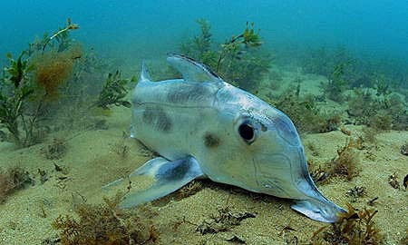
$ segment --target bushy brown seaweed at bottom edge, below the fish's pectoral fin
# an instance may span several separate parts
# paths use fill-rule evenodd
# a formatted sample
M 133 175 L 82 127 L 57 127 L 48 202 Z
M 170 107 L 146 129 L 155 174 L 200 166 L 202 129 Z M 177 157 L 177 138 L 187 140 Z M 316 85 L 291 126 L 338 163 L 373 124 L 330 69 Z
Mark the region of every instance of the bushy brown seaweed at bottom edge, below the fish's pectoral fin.
M 53 228 L 61 230 L 63 245 L 152 244 L 160 242 L 159 233 L 151 222 L 150 210 L 135 213 L 118 207 L 121 195 L 104 198 L 99 205 L 81 204 L 75 209 L 78 219 L 60 215 Z

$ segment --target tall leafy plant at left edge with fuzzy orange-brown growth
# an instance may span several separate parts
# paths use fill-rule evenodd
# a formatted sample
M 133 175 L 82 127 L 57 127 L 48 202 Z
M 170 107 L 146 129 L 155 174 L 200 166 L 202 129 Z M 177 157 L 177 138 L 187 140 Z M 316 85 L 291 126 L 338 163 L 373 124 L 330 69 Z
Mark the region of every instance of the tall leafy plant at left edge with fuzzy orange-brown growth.
M 55 97 L 58 86 L 73 71 L 73 59 L 81 56 L 78 49 L 44 52 L 39 44 L 52 44 L 53 39 L 67 41 L 67 31 L 53 35 L 48 42 L 30 44 L 16 60 L 7 54 L 10 64 L 0 79 L 0 125 L 7 130 L 2 131 L 2 138 L 18 147 L 33 145 L 43 137 L 44 125 L 38 122 L 44 118 L 45 101 Z

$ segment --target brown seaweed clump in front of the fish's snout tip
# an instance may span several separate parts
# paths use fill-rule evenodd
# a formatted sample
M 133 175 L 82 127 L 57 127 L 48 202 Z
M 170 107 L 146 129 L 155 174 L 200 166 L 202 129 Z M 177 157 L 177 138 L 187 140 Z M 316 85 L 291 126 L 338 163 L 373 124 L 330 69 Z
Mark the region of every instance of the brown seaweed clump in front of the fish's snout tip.
M 347 204 L 348 211 L 339 214 L 339 220 L 329 226 L 324 226 L 312 236 L 313 244 L 323 241 L 327 244 L 382 244 L 383 237 L 374 225 L 374 215 L 378 211 L 355 211 Z

